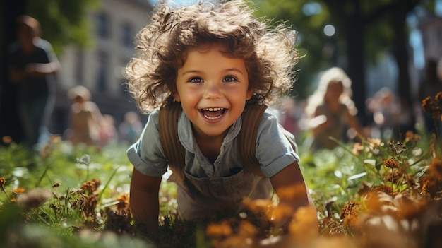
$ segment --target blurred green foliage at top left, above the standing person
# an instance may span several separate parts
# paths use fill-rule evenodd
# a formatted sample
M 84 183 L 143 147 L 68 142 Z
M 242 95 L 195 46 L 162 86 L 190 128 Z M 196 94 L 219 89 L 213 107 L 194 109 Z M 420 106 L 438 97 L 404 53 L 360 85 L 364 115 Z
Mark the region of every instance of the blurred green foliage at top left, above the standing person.
M 69 44 L 87 46 L 92 44 L 92 23 L 88 11 L 99 6 L 98 0 L 32 0 L 26 1 L 28 15 L 42 25 L 42 37 L 52 43 L 57 54 Z

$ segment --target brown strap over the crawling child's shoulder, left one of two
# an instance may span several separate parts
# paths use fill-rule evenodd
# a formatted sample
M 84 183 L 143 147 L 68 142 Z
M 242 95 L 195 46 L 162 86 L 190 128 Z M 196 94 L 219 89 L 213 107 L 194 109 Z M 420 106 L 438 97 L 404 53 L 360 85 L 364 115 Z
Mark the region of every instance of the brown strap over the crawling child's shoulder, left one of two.
M 162 150 L 165 153 L 170 170 L 174 176 L 184 180 L 185 150 L 179 142 L 178 118 L 181 113 L 181 104 L 172 102 L 161 108 L 158 114 L 158 131 Z

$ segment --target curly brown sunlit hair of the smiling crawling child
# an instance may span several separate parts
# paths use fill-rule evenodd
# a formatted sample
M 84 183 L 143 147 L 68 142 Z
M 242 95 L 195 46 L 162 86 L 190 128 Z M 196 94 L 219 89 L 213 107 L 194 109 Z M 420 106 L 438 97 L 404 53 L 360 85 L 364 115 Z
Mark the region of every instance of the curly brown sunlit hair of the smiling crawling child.
M 162 4 L 137 35 L 136 55 L 126 66 L 129 92 L 143 112 L 172 102 L 188 49 L 218 43 L 229 56 L 244 59 L 254 90 L 250 101 L 270 103 L 294 83 L 296 34 L 284 23 L 258 20 L 242 0 L 201 1 L 177 9 Z

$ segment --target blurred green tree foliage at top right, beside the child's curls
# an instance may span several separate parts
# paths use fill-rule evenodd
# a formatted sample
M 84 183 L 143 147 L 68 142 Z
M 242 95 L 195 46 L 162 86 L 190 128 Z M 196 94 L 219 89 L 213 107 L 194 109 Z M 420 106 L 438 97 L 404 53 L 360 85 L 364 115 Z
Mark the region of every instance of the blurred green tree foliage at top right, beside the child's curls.
M 412 2 L 412 1 L 407 1 Z M 421 1 L 419 8 L 434 11 L 434 0 Z M 285 21 L 299 32 L 297 42 L 301 55 L 305 55 L 297 66 L 298 80 L 294 83 L 295 95 L 305 99 L 316 87 L 315 75 L 318 71 L 330 66 L 340 66 L 345 61 L 346 54 L 351 56 L 366 56 L 366 61 L 376 64 L 386 52 L 394 48 L 394 26 L 392 25 L 396 7 L 402 6 L 402 1 L 328 1 L 328 0 L 265 0 L 253 4 L 257 16 L 266 16 L 274 21 Z M 306 6 L 316 6 L 318 12 L 306 14 Z M 392 7 L 393 6 L 393 7 Z M 357 9 L 359 8 L 359 10 Z M 364 54 L 348 51 L 348 23 L 359 23 L 364 30 Z M 327 37 L 323 34 L 325 25 L 334 25 L 336 34 Z M 353 34 L 354 35 L 354 34 Z M 361 58 L 362 59 L 362 58 Z M 351 75 L 351 73 L 350 73 Z M 353 79 L 353 78 L 352 78 Z

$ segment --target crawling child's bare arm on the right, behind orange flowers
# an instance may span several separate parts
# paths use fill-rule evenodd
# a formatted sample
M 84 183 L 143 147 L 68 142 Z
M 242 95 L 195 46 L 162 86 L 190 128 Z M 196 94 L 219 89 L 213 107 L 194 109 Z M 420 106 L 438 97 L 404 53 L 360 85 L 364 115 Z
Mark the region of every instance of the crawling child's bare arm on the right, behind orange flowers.
M 303 206 L 315 208 L 297 162 L 292 163 L 273 177 L 270 177 L 270 182 L 272 182 L 273 189 L 275 189 L 277 196 L 280 198 L 280 203 L 292 206 L 294 211 Z M 290 190 L 293 190 L 292 193 L 287 194 L 287 191 Z M 293 197 L 285 197 L 288 195 Z

